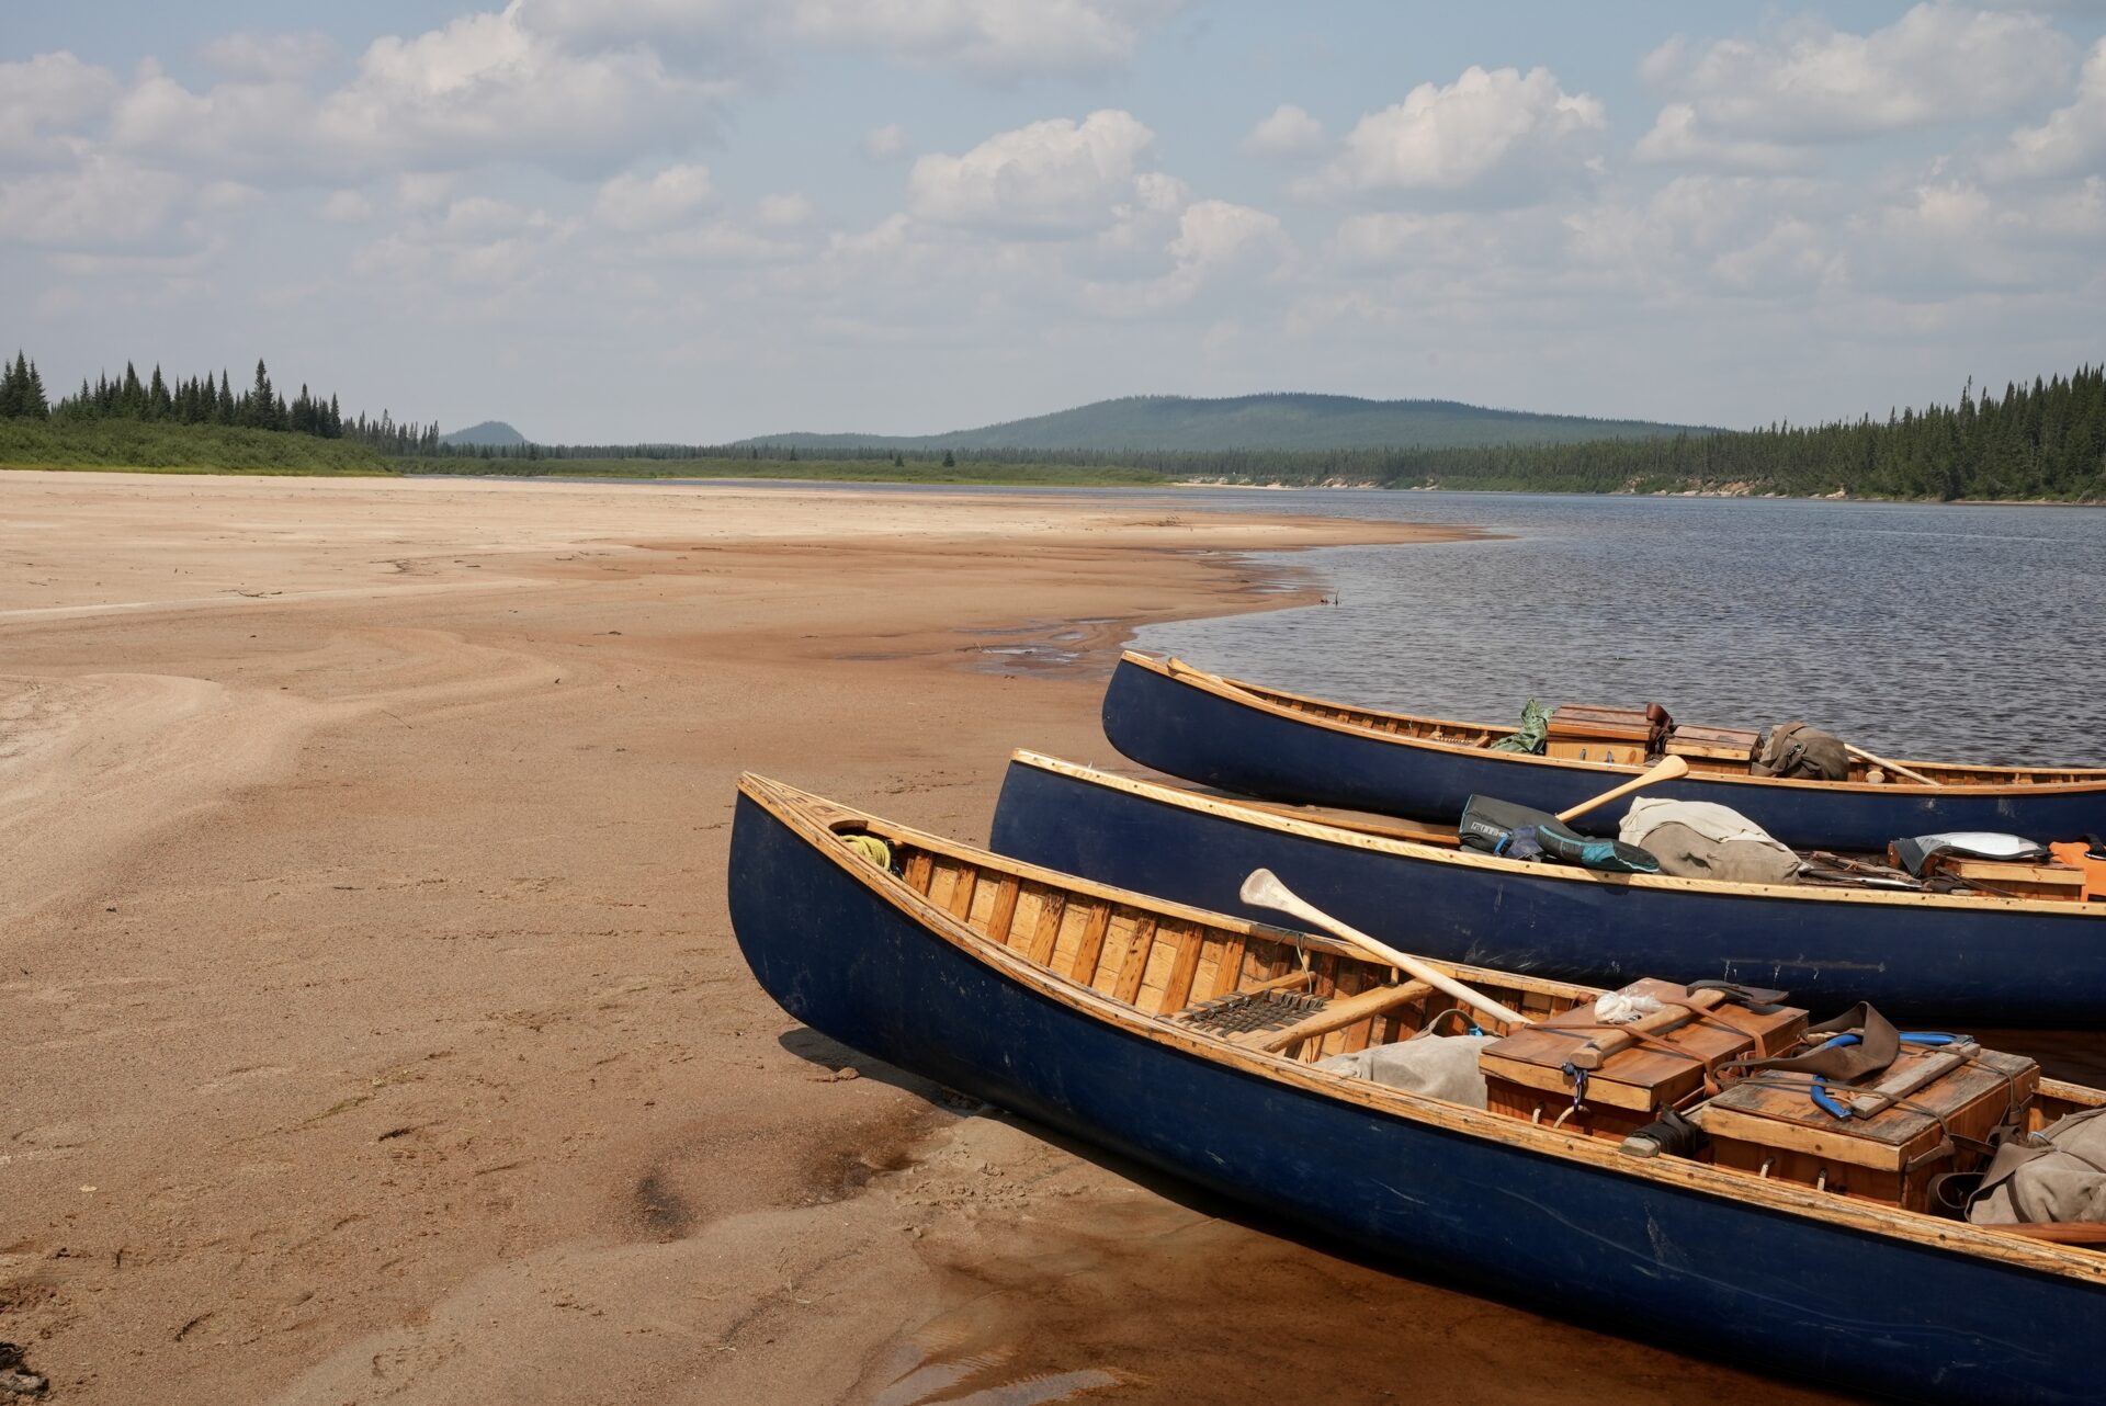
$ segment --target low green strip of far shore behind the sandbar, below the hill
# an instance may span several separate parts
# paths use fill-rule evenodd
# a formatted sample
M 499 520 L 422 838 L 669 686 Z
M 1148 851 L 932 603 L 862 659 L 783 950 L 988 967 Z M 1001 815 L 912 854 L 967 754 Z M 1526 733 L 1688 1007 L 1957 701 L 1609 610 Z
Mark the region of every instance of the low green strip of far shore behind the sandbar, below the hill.
M 1011 488 L 1148 488 L 1173 480 L 1154 469 L 1122 465 L 1074 463 L 1000 463 L 1000 461 L 895 461 L 882 459 L 752 459 L 682 457 L 682 459 L 470 459 L 417 457 L 394 459 L 402 474 L 461 474 L 503 478 L 746 478 L 746 480 L 819 480 L 847 484 L 994 484 Z

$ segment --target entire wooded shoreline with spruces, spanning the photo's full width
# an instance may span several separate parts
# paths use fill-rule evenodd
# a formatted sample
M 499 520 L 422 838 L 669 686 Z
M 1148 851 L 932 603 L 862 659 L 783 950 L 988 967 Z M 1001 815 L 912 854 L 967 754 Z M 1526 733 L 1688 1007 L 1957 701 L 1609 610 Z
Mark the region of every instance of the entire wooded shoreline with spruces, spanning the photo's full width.
M 341 444 L 318 444 L 339 440 Z M 310 448 L 299 448 L 299 444 Z M 215 459 L 219 457 L 219 459 Z M 0 360 L 0 463 L 185 465 L 617 478 L 851 478 L 895 482 L 1287 484 L 1512 493 L 1723 493 L 1876 499 L 2106 501 L 2106 364 L 2068 377 L 1969 381 L 1956 402 L 1824 425 L 1487 444 L 1472 448 L 807 448 L 754 444 L 440 444 L 438 425 L 343 419 L 337 398 L 291 402 L 257 362 L 168 385 L 93 385 L 51 404 L 36 364 Z

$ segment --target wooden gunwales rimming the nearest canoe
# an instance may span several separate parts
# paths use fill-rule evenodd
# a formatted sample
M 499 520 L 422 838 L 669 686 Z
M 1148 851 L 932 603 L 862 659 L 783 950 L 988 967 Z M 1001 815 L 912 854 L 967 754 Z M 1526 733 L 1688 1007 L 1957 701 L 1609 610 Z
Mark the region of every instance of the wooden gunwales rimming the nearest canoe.
M 889 907 L 912 920 L 929 937 L 948 943 L 971 960 L 992 968 L 1000 977 L 1045 1000 L 1122 1029 L 1125 1033 L 1137 1036 L 1150 1044 L 1175 1050 L 1181 1057 L 1314 1092 L 1327 1101 L 1363 1107 L 1384 1118 L 1405 1120 L 1481 1143 L 1495 1143 L 1516 1151 L 1613 1172 L 1622 1179 L 1678 1187 L 1727 1202 L 1761 1204 L 1769 1210 L 1803 1221 L 1820 1221 L 1860 1233 L 1900 1240 L 1923 1250 L 1975 1261 L 1994 1261 L 2005 1267 L 2106 1286 L 2106 1257 L 2085 1248 L 1996 1233 L 1961 1221 L 1940 1221 L 1919 1212 L 1904 1212 L 1874 1202 L 1826 1196 L 1811 1187 L 1796 1187 L 1784 1181 L 1763 1181 L 1744 1172 L 1729 1172 L 1674 1158 L 1641 1162 L 1617 1153 L 1613 1145 L 1598 1139 L 1565 1134 L 1552 1128 L 1531 1126 L 1508 1116 L 1468 1109 L 1422 1094 L 1369 1084 L 1367 1080 L 1329 1073 L 1278 1054 L 1240 1048 L 1224 1038 L 1181 1027 L 1165 1017 L 1144 1015 L 1133 1006 L 1120 1004 L 1091 987 L 1082 987 L 1045 966 L 1030 962 L 1024 953 L 1007 945 L 992 943 L 967 926 L 967 922 L 958 920 L 948 907 L 929 901 L 897 876 L 878 869 L 870 861 L 851 852 L 845 844 L 840 844 L 838 833 L 849 827 L 863 827 L 880 838 L 897 838 L 916 848 L 927 848 L 931 852 L 954 857 L 960 863 L 977 865 L 984 871 L 994 871 L 998 876 L 1015 873 L 1053 888 L 1068 888 L 1072 892 L 1110 899 L 1125 907 L 1156 913 L 1158 918 L 1167 916 L 1175 922 L 1196 922 L 1203 928 L 1213 928 L 1217 932 L 1259 935 L 1268 941 L 1295 941 L 1308 945 L 1312 951 L 1329 951 L 1339 945 L 1306 935 L 1287 935 L 1287 930 L 1272 928 L 1268 924 L 1253 924 L 1221 913 L 1207 913 L 1203 909 L 1163 903 L 1131 890 L 1087 884 L 1051 869 L 1009 861 L 906 825 L 893 825 L 889 821 L 880 821 L 878 817 L 870 817 L 834 802 L 823 802 L 807 791 L 798 791 L 796 787 L 756 775 L 743 775 L 739 779 L 739 791 L 792 833 L 800 836 L 807 844 L 811 844 L 811 848 L 826 855 L 828 861 L 832 861 L 842 873 L 851 876 L 859 886 L 868 888 Z M 1192 935 L 1190 941 L 1198 941 L 1198 935 Z M 1375 964 L 1365 966 L 1373 968 Z M 1478 968 L 1453 962 L 1436 962 L 1436 966 L 1451 970 L 1466 981 L 1478 979 L 1514 989 L 1554 991 L 1577 998 L 1594 996 L 1594 989 L 1580 987 L 1575 983 L 1539 981 L 1516 972 L 1481 972 Z M 2051 1080 L 2041 1082 L 2041 1092 L 2077 1105 L 2095 1105 L 2106 1099 L 2106 1094 L 2100 1094 L 2098 1090 L 2074 1084 L 2058 1084 Z

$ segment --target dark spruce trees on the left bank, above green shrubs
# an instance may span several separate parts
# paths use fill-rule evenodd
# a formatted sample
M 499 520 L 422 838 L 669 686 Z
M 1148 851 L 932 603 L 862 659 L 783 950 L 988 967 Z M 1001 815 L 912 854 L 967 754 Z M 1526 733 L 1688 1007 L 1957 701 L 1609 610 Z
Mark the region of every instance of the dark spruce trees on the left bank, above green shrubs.
M 232 425 L 305 434 L 316 440 L 354 440 L 383 455 L 432 455 L 440 448 L 436 421 L 430 425 L 396 423 L 385 410 L 379 419 L 364 415 L 345 419 L 335 396 L 324 400 L 310 394 L 305 385 L 293 400 L 286 400 L 272 385 L 270 368 L 261 358 L 257 358 L 255 381 L 242 391 L 234 389 L 225 368 L 217 377 L 204 373 L 171 383 L 162 377 L 160 366 L 154 366 L 154 373 L 141 381 L 137 366 L 124 362 L 122 377 L 103 373 L 93 385 L 82 377 L 80 391 L 53 404 L 36 362 L 17 352 L 15 362 L 0 373 L 0 419 Z

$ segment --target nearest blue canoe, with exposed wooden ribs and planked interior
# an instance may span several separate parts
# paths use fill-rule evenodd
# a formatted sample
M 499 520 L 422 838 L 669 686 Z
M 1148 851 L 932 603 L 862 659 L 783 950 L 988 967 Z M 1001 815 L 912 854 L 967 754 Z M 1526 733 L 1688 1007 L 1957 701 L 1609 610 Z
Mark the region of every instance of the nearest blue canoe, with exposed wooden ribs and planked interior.
M 845 842 L 891 844 L 878 867 Z M 760 985 L 868 1054 L 1430 1278 L 1916 1402 L 2098 1400 L 2106 1254 L 1470 1109 L 1304 1059 L 1432 1021 L 1339 943 L 1089 884 L 746 777 L 731 920 Z M 1200 1000 L 1373 1010 L 1268 1050 Z M 1592 991 L 1453 968 L 1523 1010 Z M 1299 981 L 1299 977 L 1297 977 Z M 1388 1004 L 1384 1004 L 1388 1002 Z M 1358 1042 L 1358 1044 L 1354 1044 Z M 1266 1038 L 1266 1044 L 1276 1040 Z M 2039 1116 L 2106 1103 L 2043 1082 Z

